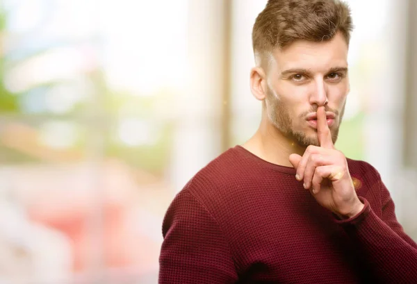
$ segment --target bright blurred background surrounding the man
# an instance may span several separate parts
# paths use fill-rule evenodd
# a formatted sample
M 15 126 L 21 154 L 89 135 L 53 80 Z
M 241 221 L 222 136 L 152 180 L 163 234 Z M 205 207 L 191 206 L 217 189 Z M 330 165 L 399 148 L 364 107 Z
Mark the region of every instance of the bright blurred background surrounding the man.
M 260 122 L 266 0 L 1 0 L 0 283 L 157 283 L 163 215 Z M 374 165 L 417 240 L 414 0 L 350 0 L 336 144 Z

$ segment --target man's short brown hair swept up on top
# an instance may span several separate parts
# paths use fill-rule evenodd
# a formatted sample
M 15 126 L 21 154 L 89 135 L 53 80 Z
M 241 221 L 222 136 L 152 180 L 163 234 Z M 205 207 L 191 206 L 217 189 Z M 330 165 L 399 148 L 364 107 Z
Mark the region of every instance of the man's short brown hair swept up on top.
M 252 30 L 255 56 L 296 40 L 323 42 L 341 31 L 347 44 L 353 29 L 350 8 L 340 0 L 269 0 Z

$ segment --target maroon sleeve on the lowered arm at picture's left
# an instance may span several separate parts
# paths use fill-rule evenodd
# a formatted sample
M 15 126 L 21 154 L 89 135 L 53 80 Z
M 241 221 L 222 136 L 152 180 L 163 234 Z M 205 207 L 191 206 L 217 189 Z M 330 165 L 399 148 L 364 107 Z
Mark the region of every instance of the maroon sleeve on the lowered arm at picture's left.
M 188 191 L 180 192 L 163 221 L 159 284 L 235 283 L 234 261 L 218 223 Z

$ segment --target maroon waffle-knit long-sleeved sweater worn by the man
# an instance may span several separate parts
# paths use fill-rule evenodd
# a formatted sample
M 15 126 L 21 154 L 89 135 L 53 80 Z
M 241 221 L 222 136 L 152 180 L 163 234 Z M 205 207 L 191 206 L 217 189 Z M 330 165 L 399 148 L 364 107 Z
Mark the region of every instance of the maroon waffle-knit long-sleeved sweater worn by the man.
M 159 283 L 417 283 L 417 244 L 389 191 L 371 165 L 347 162 L 365 206 L 340 220 L 292 167 L 222 153 L 167 210 Z

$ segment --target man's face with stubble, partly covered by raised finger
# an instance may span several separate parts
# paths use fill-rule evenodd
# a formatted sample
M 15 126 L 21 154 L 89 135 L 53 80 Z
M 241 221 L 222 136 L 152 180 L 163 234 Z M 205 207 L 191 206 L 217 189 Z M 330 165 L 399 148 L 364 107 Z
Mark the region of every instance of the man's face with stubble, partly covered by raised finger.
M 325 106 L 336 142 L 349 92 L 347 43 L 341 33 L 327 42 L 300 40 L 275 50 L 267 82 L 266 111 L 281 133 L 300 146 L 318 146 L 315 115 L 318 106 Z

